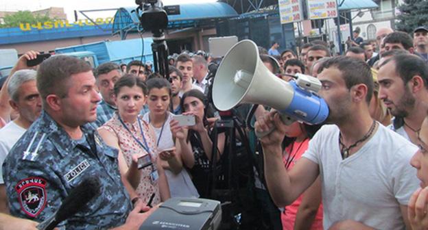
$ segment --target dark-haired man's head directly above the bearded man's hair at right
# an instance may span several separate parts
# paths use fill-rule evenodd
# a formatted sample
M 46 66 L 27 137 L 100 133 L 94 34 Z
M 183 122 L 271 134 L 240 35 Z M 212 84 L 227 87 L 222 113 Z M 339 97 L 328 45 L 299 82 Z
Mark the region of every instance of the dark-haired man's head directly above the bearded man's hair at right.
M 385 51 L 390 51 L 391 49 L 405 49 L 410 53 L 414 53 L 412 37 L 403 31 L 392 32 L 383 38 L 383 49 L 385 49 Z

